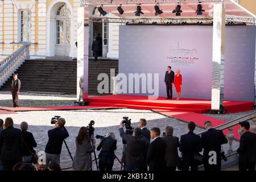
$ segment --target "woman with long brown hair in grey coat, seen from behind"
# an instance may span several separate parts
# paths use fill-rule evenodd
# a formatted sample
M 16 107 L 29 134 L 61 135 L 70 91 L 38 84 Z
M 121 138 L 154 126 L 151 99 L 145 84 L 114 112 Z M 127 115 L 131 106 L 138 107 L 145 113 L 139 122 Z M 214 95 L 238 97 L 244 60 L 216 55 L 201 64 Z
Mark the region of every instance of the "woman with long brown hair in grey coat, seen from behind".
M 89 171 L 92 169 L 92 152 L 95 148 L 95 139 L 93 145 L 86 127 L 81 127 L 76 137 L 76 153 L 72 168 L 76 171 Z

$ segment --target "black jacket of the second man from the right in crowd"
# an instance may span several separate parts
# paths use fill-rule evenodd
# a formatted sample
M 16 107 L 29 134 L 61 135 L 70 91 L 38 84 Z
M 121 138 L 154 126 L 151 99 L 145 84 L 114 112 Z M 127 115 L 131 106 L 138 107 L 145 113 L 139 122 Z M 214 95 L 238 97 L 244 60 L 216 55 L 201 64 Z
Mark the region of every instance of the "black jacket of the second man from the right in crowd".
M 210 158 L 209 152 L 215 151 L 217 154 L 217 163 L 220 163 L 221 160 L 221 145 L 224 143 L 228 143 L 225 135 L 221 130 L 209 129 L 202 134 L 201 137 L 202 147 L 204 148 L 204 163 L 208 163 L 208 159 Z

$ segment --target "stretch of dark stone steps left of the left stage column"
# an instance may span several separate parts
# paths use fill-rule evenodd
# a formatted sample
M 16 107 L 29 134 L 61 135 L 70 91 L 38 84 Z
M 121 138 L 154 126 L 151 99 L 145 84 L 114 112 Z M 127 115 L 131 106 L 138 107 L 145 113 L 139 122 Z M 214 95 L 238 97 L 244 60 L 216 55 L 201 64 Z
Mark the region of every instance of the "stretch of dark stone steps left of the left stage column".
M 26 60 L 16 71 L 20 92 L 76 94 L 76 60 Z M 10 91 L 10 77 L 0 90 Z

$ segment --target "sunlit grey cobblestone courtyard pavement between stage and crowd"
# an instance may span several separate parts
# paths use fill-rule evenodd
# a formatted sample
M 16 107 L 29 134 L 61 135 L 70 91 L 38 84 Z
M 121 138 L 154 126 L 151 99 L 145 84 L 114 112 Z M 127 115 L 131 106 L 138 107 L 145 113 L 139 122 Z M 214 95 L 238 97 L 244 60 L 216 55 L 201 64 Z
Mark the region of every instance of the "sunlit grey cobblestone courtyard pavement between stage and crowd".
M 59 94 L 35 94 L 35 93 L 20 93 L 20 101 L 22 106 L 64 106 L 73 105 L 73 101 L 76 100 L 76 96 L 71 95 L 59 95 Z M 10 106 L 11 95 L 9 92 L 0 92 L 0 106 Z M 216 117 L 218 119 L 224 119 L 225 121 L 231 121 L 232 119 L 240 118 L 243 115 L 254 112 L 248 111 L 244 113 L 235 114 L 205 114 L 210 117 Z M 95 134 L 106 135 L 108 131 L 114 131 L 116 139 L 118 140 L 117 150 L 115 154 L 118 159 L 121 160 L 122 156 L 122 139 L 119 137 L 118 128 L 122 117 L 131 118 L 132 126 L 137 127 L 139 118 L 147 119 L 147 127 L 159 127 L 161 132 L 167 125 L 174 127 L 174 135 L 180 138 L 180 135 L 187 133 L 187 123 L 179 121 L 175 118 L 165 117 L 158 113 L 154 113 L 150 110 L 135 110 L 135 109 L 112 109 L 112 110 L 68 110 L 68 111 L 26 111 L 18 112 L 18 114 L 1 114 L 0 118 L 12 117 L 14 119 L 15 127 L 19 127 L 22 121 L 28 122 L 28 131 L 34 134 L 35 140 L 38 143 L 38 147 L 35 148 L 37 152 L 44 150 L 47 144 L 48 136 L 47 131 L 53 129 L 51 125 L 51 118 L 55 115 L 60 115 L 66 119 L 66 127 L 69 131 L 69 138 L 67 138 L 68 148 L 75 154 L 75 137 L 81 126 L 87 126 L 91 120 L 95 121 Z M 196 128 L 195 133 L 203 131 L 199 127 Z M 100 140 L 96 140 L 97 144 Z M 239 143 L 233 142 L 233 149 L 236 150 Z M 228 144 L 224 144 L 224 151 L 229 148 Z M 96 151 L 98 155 L 98 151 Z M 93 156 L 94 159 L 94 156 Z M 67 168 L 72 166 L 71 158 L 68 154 L 67 148 L 63 144 L 63 150 L 61 152 L 61 167 Z M 95 163 L 93 163 L 94 169 L 96 169 Z M 121 168 L 117 160 L 114 163 L 114 170 Z

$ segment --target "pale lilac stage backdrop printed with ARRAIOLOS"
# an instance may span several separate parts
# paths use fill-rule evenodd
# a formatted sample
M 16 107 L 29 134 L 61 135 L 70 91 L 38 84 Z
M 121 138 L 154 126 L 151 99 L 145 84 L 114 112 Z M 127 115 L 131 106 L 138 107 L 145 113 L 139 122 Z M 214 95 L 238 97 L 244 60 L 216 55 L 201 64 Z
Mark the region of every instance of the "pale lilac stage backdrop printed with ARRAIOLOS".
M 226 27 L 225 100 L 254 100 L 255 32 Z M 166 96 L 168 65 L 181 70 L 181 97 L 210 99 L 212 26 L 119 26 L 119 73 L 159 73 L 159 96 Z

